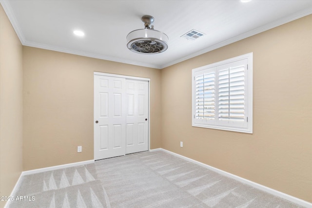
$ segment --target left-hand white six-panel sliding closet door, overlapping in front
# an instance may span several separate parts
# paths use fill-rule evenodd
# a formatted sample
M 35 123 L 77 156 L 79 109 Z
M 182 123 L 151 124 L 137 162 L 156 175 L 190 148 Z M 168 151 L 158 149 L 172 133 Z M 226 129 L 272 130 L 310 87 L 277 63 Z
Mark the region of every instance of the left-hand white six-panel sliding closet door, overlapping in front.
M 94 159 L 125 155 L 125 78 L 94 76 Z

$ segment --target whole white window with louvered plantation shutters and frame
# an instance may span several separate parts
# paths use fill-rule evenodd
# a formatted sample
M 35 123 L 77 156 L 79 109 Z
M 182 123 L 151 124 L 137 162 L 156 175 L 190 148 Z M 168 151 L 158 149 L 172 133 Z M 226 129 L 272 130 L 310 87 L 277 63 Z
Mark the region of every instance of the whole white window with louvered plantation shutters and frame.
M 192 70 L 192 126 L 253 133 L 253 53 Z

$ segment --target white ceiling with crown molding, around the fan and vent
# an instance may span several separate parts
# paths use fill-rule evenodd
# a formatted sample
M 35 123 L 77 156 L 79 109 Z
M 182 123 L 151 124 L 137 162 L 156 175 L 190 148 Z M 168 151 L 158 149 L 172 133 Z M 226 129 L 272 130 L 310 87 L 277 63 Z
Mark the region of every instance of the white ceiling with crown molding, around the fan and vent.
M 164 68 L 286 22 L 312 14 L 312 0 L 0 0 L 26 46 Z M 129 32 L 143 29 L 143 15 L 169 37 L 155 55 L 126 47 Z M 84 31 L 83 38 L 73 34 Z M 180 38 L 195 29 L 196 40 Z

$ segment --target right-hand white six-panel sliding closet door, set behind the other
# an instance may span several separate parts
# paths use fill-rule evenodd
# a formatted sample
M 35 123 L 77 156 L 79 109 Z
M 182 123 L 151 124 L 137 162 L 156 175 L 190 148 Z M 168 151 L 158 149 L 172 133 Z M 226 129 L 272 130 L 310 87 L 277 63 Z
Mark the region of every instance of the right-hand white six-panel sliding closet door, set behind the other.
M 148 81 L 126 80 L 126 154 L 148 150 Z

